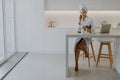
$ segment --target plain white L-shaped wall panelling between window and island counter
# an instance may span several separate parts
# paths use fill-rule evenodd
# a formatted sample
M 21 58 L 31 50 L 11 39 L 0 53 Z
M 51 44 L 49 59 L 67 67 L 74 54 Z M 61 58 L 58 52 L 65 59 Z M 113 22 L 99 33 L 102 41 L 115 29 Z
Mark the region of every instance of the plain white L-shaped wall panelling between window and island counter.
M 65 32 L 74 28 L 46 27 L 44 0 L 16 0 L 16 19 L 19 52 L 65 53 Z M 70 40 L 71 53 L 73 44 L 74 39 Z

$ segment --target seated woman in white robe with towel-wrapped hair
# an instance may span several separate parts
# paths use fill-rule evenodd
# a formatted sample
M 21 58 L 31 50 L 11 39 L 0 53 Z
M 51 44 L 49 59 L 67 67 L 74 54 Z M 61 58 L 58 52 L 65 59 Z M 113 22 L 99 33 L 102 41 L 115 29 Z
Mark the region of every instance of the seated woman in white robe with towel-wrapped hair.
M 87 7 L 85 5 L 82 5 L 80 9 L 80 17 L 79 17 L 79 30 L 88 31 L 91 32 L 91 28 L 93 25 L 93 20 L 87 16 Z M 79 60 L 79 54 L 80 50 L 84 51 L 85 57 L 88 57 L 88 46 L 91 41 L 91 38 L 78 38 L 76 45 L 75 45 L 75 71 L 78 71 L 78 60 Z

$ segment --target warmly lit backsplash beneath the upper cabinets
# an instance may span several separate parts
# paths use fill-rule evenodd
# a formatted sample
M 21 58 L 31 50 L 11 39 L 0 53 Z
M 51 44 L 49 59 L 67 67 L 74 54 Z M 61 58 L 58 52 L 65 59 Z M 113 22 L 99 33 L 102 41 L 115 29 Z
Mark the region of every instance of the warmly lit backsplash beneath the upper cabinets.
M 78 25 L 79 11 L 45 11 L 45 25 L 54 27 L 75 27 Z M 113 27 L 120 22 L 120 11 L 89 11 L 88 16 L 94 21 L 95 26 L 107 20 Z

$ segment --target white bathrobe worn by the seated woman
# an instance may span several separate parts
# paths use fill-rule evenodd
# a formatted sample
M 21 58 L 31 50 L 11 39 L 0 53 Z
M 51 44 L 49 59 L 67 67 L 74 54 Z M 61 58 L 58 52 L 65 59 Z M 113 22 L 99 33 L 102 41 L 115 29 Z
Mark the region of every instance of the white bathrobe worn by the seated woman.
M 77 28 L 77 30 L 81 30 L 83 28 L 83 26 L 90 26 L 91 25 L 91 29 L 94 27 L 93 24 L 93 20 L 91 18 L 89 18 L 88 16 L 85 18 L 84 21 L 81 21 L 80 26 Z M 76 42 L 78 42 L 81 38 L 78 38 L 76 40 Z M 89 48 L 89 44 L 91 42 L 91 38 L 84 38 L 87 44 L 87 49 Z

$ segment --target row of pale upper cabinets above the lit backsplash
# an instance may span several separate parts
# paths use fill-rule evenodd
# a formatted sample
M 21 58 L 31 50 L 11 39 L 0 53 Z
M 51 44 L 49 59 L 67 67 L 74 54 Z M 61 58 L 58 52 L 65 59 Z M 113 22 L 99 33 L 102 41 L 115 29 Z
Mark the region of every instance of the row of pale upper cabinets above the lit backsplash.
M 80 4 L 90 11 L 120 10 L 120 0 L 45 0 L 45 10 L 79 10 Z

